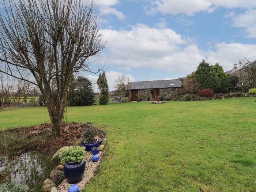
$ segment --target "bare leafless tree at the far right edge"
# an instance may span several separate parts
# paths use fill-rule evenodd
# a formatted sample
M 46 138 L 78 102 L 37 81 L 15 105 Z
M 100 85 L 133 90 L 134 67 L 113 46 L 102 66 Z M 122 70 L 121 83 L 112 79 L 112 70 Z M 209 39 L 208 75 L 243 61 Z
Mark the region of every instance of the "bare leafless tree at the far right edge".
M 251 62 L 245 58 L 234 64 L 234 69 L 247 73 L 252 81 L 253 87 L 256 88 L 256 60 Z

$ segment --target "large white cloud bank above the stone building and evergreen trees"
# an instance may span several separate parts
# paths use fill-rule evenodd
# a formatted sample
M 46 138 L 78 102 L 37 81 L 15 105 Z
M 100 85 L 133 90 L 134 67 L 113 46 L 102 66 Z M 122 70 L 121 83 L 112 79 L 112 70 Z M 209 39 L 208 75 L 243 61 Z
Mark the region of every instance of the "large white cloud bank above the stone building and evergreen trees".
M 206 59 L 220 63 L 225 70 L 244 57 L 256 56 L 255 44 L 219 43 L 212 50 L 200 50 L 196 43 L 172 29 L 156 29 L 136 25 L 131 30 L 101 30 L 106 44 L 104 63 L 118 68 L 162 69 L 188 74 Z

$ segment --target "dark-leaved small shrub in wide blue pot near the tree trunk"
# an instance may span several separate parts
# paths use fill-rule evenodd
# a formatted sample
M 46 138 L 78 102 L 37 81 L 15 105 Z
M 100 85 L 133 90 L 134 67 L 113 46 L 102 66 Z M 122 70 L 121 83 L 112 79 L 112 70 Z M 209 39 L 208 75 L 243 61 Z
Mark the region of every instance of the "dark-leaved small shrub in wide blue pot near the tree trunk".
M 97 129 L 94 127 L 88 127 L 84 133 L 83 133 L 83 138 L 84 138 L 84 147 L 86 151 L 91 151 L 91 148 L 93 147 L 98 147 L 99 146 L 99 139 L 95 138 L 97 134 Z

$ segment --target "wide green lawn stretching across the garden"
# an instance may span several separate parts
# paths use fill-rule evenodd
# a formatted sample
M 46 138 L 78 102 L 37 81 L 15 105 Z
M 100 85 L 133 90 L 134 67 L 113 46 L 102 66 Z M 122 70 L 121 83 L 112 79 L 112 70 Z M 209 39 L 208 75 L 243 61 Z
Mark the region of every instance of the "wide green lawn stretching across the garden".
M 83 191 L 256 191 L 254 101 L 69 107 L 67 121 L 91 121 L 109 142 L 106 159 Z M 1 129 L 46 121 L 42 107 L 0 112 Z

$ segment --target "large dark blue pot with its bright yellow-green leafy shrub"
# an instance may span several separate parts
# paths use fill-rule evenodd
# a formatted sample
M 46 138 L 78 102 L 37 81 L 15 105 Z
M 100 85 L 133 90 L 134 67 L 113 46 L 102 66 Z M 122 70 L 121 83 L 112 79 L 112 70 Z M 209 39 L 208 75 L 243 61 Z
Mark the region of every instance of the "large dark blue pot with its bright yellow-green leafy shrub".
M 74 146 L 60 151 L 59 158 L 65 161 L 63 172 L 68 183 L 73 184 L 82 180 L 86 165 L 84 157 L 84 147 Z

